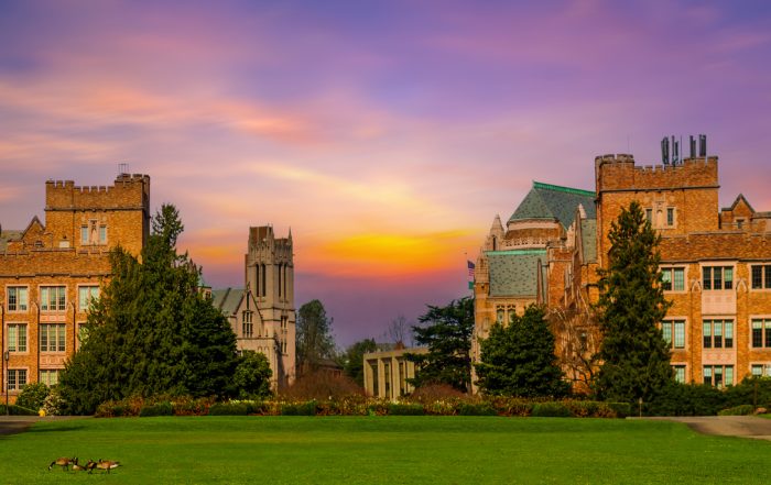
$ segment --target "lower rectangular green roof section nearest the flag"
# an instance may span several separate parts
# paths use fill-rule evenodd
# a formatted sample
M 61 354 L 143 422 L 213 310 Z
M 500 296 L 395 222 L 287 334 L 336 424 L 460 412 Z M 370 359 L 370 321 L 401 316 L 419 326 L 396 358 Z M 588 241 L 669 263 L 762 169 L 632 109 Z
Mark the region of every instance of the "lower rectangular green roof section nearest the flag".
M 546 250 L 487 251 L 491 297 L 537 296 L 537 261 L 546 280 Z

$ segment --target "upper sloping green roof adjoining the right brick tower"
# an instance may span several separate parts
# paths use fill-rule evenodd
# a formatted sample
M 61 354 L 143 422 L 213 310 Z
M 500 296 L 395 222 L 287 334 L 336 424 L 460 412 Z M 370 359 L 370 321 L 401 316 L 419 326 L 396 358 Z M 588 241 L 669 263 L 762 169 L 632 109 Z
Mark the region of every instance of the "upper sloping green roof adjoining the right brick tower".
M 563 228 L 567 229 L 573 223 L 579 203 L 584 207 L 588 219 L 597 217 L 595 192 L 533 181 L 533 188 L 511 214 L 509 222 L 526 219 L 556 219 Z

